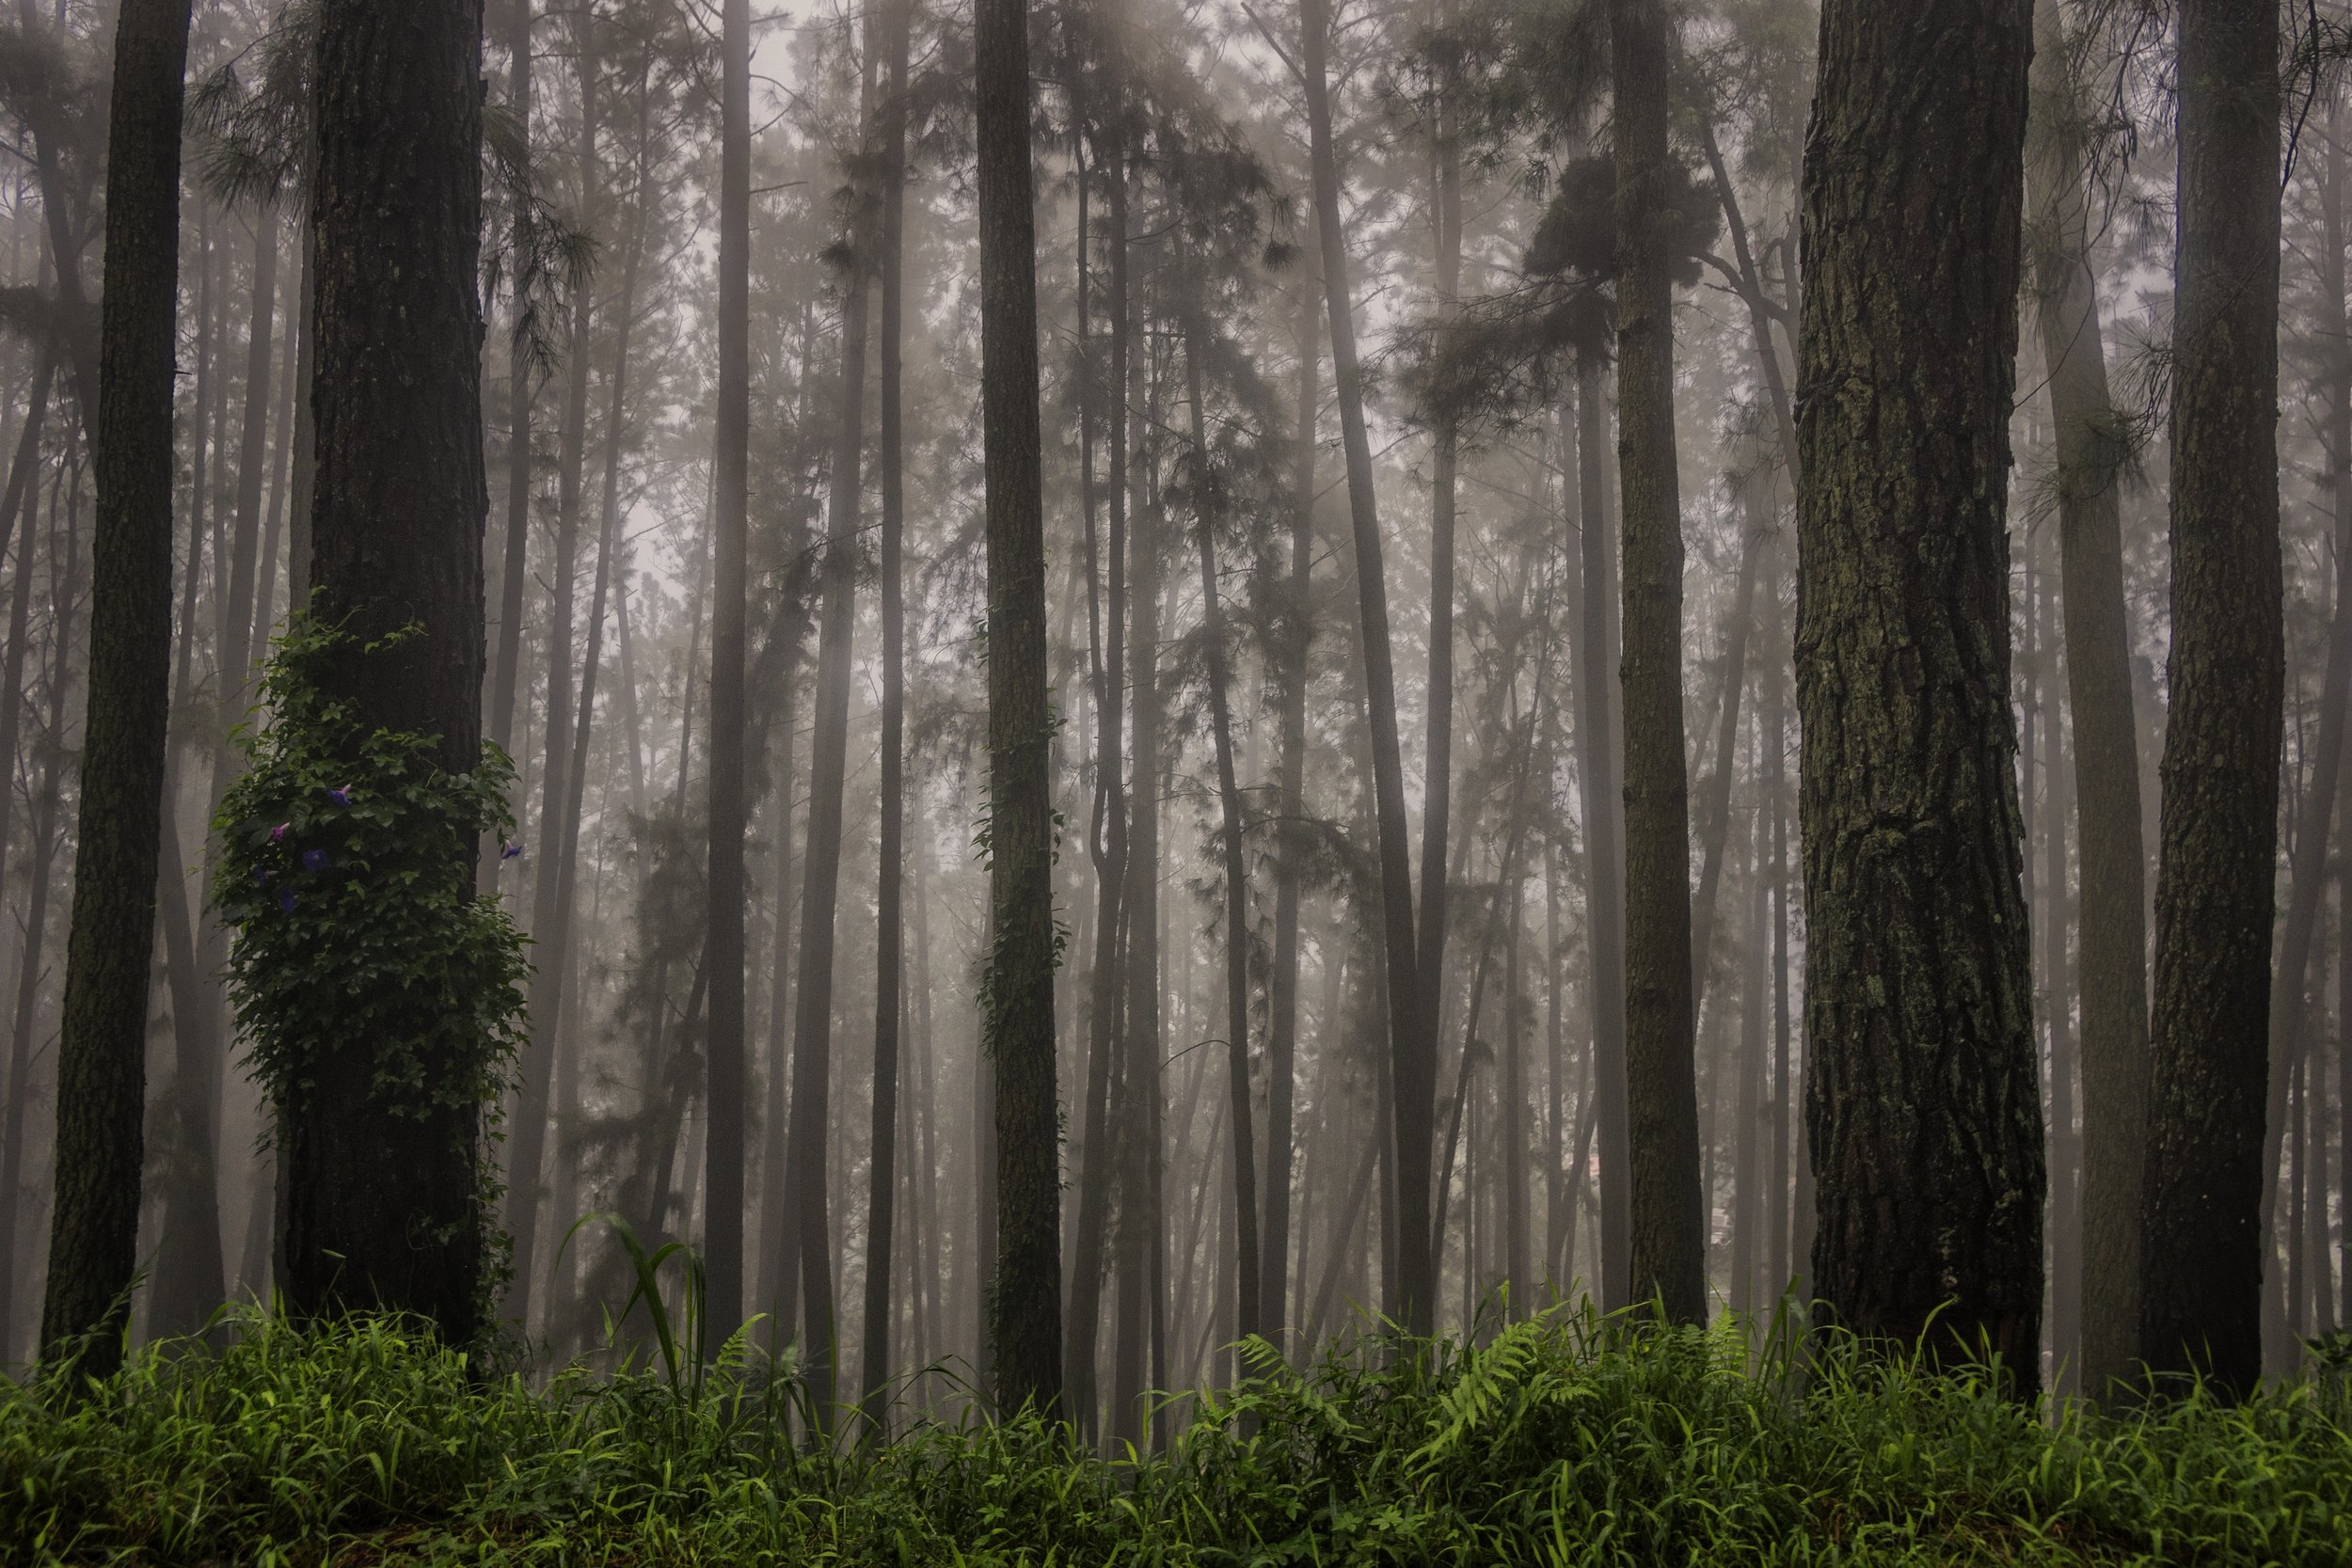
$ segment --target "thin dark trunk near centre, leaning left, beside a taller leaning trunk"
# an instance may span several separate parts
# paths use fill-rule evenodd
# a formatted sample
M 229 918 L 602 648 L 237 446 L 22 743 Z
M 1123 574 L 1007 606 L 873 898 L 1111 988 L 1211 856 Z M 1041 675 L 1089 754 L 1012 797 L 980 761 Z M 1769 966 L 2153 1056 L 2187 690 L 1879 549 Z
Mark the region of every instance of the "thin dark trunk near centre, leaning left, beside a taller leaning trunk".
M 1192 541 L 1200 550 L 1200 616 L 1209 644 L 1209 736 L 1216 745 L 1216 799 L 1225 858 L 1225 1103 L 1232 1126 L 1235 1338 L 1258 1333 L 1258 1152 L 1249 1105 L 1249 875 L 1242 860 L 1242 785 L 1232 771 L 1232 672 L 1225 668 L 1225 611 L 1216 592 L 1216 496 L 1209 416 L 1200 393 L 1197 320 L 1185 322 L 1185 395 L 1192 407 Z

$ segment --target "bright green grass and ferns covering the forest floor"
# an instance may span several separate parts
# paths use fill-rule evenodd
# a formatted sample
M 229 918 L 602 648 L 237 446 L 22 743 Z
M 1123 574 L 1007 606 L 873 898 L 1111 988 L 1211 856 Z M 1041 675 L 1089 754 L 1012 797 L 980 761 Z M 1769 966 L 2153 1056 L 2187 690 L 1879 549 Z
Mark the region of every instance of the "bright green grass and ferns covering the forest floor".
M 1258 1347 L 1157 1458 L 1037 1420 L 809 1443 L 781 1368 L 487 1375 L 400 1321 L 233 1319 L 0 1378 L 5 1563 L 2345 1563 L 2333 1378 L 2133 1415 L 1832 1347 L 1548 1314 Z

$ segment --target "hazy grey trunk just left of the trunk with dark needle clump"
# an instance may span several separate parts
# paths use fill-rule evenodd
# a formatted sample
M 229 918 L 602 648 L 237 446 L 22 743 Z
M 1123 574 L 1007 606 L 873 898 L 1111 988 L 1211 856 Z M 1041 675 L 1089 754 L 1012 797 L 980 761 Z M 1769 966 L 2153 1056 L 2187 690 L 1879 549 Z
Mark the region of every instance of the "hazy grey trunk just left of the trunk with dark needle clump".
M 1602 350 L 1576 350 L 1576 524 L 1569 599 L 1576 611 L 1576 780 L 1585 818 L 1585 957 L 1590 959 L 1592 1095 L 1599 1133 L 1602 1309 L 1632 1305 L 1632 1204 L 1625 1145 L 1625 849 L 1618 743 L 1616 517 L 1609 505 L 1609 409 Z

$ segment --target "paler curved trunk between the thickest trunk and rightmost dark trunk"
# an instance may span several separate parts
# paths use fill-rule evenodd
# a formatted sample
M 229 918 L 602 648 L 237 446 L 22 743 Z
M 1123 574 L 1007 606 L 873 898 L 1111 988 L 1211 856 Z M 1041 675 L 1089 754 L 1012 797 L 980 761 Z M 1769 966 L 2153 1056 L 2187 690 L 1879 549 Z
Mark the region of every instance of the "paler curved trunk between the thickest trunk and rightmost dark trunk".
M 2067 717 L 2082 865 L 2082 1387 L 2133 1375 L 2140 1288 L 2140 1159 L 2147 1138 L 2147 853 L 2140 741 L 2124 611 L 2122 473 L 2129 437 L 2107 395 L 2091 270 L 2082 106 L 2056 0 L 2034 5 L 2025 165 L 2034 324 L 2058 440 L 2058 569 L 2065 578 Z M 2343 247 L 2338 254 L 2338 280 Z M 2343 287 L 2338 327 L 2343 315 Z M 2338 454 L 2338 461 L 2343 456 Z M 2352 630 L 2352 621 L 2343 623 Z M 2338 642 L 2343 632 L 2338 632 Z M 2065 1267 L 2077 1267 L 2067 1260 Z

